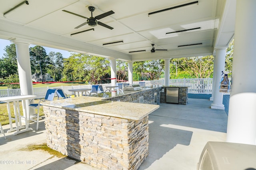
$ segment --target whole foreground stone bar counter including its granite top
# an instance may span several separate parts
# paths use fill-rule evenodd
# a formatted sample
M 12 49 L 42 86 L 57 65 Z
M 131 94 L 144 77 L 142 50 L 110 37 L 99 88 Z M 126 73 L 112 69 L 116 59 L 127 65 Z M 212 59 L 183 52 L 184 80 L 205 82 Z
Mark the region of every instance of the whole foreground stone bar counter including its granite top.
M 47 145 L 101 170 L 136 170 L 148 155 L 158 105 L 80 96 L 44 102 Z

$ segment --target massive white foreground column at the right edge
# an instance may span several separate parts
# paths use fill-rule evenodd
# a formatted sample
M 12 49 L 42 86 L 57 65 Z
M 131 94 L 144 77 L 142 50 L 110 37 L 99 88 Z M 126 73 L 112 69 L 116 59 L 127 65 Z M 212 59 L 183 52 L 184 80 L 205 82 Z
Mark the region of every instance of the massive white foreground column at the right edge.
M 256 145 L 256 1 L 236 1 L 227 142 Z

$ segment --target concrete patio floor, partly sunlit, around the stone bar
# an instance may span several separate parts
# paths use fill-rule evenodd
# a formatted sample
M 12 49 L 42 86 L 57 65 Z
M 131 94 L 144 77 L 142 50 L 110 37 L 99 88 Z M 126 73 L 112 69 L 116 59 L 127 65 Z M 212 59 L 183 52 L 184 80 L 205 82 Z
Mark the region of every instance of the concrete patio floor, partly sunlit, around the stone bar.
M 188 99 L 187 105 L 160 104 L 149 115 L 149 155 L 139 170 L 196 170 L 208 141 L 226 141 L 228 116 L 224 110 L 210 109 L 211 101 Z M 44 118 L 44 117 L 43 117 Z M 36 129 L 36 124 L 30 127 Z M 6 132 L 9 125 L 4 125 Z M 8 170 L 96 170 L 68 157 L 44 150 L 28 150 L 46 143 L 44 119 L 38 131 L 13 136 L 0 134 L 0 169 Z

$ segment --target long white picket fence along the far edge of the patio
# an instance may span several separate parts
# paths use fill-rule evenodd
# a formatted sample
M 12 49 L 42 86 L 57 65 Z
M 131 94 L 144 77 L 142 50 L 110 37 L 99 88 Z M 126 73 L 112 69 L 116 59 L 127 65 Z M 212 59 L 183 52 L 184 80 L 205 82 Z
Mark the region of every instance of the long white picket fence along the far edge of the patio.
M 148 80 L 133 82 L 134 84 L 143 84 L 143 86 L 157 87 L 163 86 L 164 80 Z M 170 86 L 188 86 L 188 93 L 193 94 L 212 94 L 212 78 L 183 78 L 183 79 L 170 79 Z M 102 84 L 103 88 L 105 86 L 111 86 L 111 84 Z M 58 86 L 50 88 L 61 88 L 67 95 L 71 95 L 68 89 L 78 89 L 78 88 L 91 88 L 92 85 L 78 85 L 78 86 Z M 49 88 L 33 88 L 34 95 L 36 98 L 44 98 L 46 91 Z M 106 88 L 104 88 L 106 90 Z M 4 89 L 0 90 L 0 97 L 8 96 L 19 96 L 20 89 Z

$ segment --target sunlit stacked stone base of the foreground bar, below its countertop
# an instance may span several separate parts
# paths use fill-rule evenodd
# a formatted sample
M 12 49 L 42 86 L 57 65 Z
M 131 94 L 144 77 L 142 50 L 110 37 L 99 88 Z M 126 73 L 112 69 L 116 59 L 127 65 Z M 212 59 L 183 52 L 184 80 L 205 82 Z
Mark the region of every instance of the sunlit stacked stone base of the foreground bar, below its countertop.
M 136 170 L 148 155 L 148 116 L 122 119 L 44 106 L 47 145 L 101 170 Z

